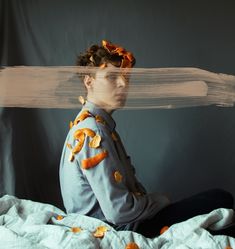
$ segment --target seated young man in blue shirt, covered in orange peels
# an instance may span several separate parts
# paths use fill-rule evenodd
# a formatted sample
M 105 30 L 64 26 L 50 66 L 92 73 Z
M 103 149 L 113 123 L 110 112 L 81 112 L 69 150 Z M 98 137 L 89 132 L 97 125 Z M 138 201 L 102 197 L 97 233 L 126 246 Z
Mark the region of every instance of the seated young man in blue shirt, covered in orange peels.
M 82 110 L 67 135 L 60 162 L 60 184 L 68 213 L 101 219 L 117 230 L 147 237 L 216 208 L 232 208 L 230 193 L 214 189 L 177 203 L 160 193 L 147 193 L 135 176 L 112 113 L 125 105 L 129 78 L 115 68 L 131 68 L 132 53 L 103 40 L 78 57 L 78 66 L 96 73 L 81 75 L 87 90 Z

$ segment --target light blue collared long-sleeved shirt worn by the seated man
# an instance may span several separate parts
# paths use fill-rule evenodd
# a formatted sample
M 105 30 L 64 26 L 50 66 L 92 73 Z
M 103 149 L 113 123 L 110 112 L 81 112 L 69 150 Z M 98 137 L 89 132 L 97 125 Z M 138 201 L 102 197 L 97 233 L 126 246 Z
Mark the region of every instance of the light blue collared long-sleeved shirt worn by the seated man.
M 134 227 L 133 224 L 151 218 L 167 206 L 169 200 L 158 193 L 147 194 L 138 182 L 111 115 L 86 101 L 77 117 L 84 110 L 88 110 L 91 116 L 70 129 L 61 156 L 60 186 L 66 211 L 96 217 L 123 230 Z M 101 116 L 105 124 L 97 122 L 96 115 Z M 99 135 L 100 146 L 91 148 L 89 143 L 92 137 L 85 136 L 81 151 L 74 154 L 74 160 L 70 161 L 71 148 L 78 143 L 74 133 L 82 128 L 89 128 Z M 82 168 L 84 159 L 104 150 L 108 156 L 100 163 L 89 169 Z

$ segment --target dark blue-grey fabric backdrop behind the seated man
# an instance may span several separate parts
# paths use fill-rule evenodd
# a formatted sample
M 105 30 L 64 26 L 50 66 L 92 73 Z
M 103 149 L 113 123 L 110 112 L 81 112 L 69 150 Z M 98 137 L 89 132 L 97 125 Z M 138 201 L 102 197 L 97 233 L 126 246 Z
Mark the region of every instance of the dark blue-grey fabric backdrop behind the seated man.
M 0 1 L 1 65 L 74 65 L 108 39 L 136 67 L 199 67 L 235 75 L 234 1 Z M 0 194 L 63 208 L 58 182 L 78 110 L 0 109 Z M 176 200 L 208 188 L 235 194 L 235 108 L 117 111 L 137 175 Z

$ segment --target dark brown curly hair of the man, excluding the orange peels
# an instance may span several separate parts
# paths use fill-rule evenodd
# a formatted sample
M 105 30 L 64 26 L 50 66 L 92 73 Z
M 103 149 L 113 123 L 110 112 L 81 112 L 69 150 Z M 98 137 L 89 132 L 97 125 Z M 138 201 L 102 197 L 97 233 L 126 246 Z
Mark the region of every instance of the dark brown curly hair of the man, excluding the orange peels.
M 123 56 L 118 53 L 110 53 L 103 46 L 97 44 L 92 45 L 84 53 L 80 53 L 77 56 L 77 66 L 89 66 L 89 67 L 100 67 L 104 63 L 111 63 L 116 67 L 121 67 Z M 135 58 L 131 61 L 131 66 L 135 65 Z M 91 74 L 90 74 L 91 75 Z M 80 78 L 84 79 L 85 75 L 82 73 L 79 75 Z

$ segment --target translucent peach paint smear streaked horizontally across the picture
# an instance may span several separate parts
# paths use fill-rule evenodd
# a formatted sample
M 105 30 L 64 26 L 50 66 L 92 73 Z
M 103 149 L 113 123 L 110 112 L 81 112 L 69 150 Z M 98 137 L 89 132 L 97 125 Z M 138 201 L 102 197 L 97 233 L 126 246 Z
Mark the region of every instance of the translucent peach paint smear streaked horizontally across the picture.
M 91 67 L 17 66 L 0 69 L 0 106 L 26 108 L 80 108 L 85 96 L 78 74 Z M 198 68 L 109 69 L 130 77 L 124 109 L 233 106 L 235 76 Z

